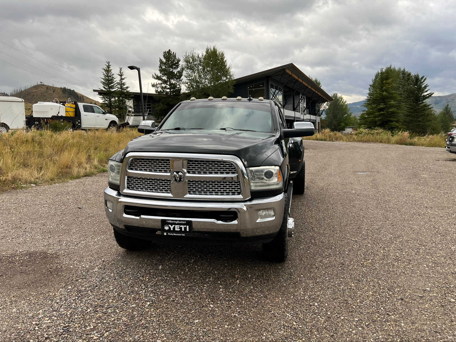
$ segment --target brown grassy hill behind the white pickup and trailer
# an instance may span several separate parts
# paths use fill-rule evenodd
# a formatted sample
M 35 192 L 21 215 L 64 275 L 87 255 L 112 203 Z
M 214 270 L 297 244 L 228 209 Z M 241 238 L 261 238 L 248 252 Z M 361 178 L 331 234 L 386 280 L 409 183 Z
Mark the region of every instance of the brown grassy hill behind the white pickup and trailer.
M 71 98 L 72 101 L 100 105 L 93 98 L 88 98 L 83 94 L 75 92 L 73 89 L 53 87 L 46 84 L 36 84 L 11 96 L 24 99 L 26 115 L 31 113 L 32 104 L 36 104 L 38 101 L 52 101 L 54 98 L 58 98 L 59 101 L 66 101 L 68 98 Z

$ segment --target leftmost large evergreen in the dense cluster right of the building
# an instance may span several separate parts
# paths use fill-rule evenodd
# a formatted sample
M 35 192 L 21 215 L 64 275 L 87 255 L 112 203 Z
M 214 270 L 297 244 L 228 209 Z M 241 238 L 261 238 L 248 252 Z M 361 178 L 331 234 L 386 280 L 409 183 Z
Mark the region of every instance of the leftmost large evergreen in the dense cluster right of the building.
M 399 73 L 392 66 L 381 68 L 369 85 L 360 124 L 366 128 L 399 130 L 402 128 L 403 105 L 399 92 Z

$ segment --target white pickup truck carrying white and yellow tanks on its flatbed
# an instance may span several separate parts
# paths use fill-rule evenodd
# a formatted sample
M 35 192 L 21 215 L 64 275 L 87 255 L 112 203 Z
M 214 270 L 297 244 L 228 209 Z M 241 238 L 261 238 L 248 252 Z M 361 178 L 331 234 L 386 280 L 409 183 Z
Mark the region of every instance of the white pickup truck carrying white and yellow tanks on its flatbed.
M 119 119 L 108 114 L 95 104 L 76 101 L 38 102 L 33 105 L 33 113 L 26 117 L 27 127 L 39 126 L 42 121 L 63 120 L 73 123 L 73 129 L 109 129 L 116 128 Z

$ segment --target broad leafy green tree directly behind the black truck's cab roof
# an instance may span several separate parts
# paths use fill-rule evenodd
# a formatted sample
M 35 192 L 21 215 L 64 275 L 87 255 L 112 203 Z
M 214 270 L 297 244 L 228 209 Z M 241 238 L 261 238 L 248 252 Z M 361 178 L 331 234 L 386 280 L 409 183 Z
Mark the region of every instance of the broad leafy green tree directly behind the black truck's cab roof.
M 185 85 L 196 98 L 219 98 L 233 93 L 234 73 L 225 53 L 216 46 L 206 47 L 205 52 L 192 50 L 183 57 Z

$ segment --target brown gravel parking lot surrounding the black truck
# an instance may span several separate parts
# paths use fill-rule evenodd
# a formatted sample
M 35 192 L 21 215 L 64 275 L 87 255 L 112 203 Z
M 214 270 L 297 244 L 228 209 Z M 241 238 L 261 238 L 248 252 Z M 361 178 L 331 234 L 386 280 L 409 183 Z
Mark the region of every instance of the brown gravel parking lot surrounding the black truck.
M 283 264 L 120 249 L 105 174 L 0 194 L 0 340 L 456 340 L 456 156 L 305 145 Z

